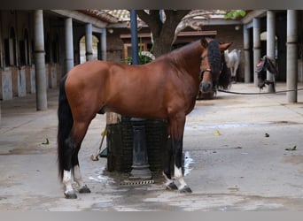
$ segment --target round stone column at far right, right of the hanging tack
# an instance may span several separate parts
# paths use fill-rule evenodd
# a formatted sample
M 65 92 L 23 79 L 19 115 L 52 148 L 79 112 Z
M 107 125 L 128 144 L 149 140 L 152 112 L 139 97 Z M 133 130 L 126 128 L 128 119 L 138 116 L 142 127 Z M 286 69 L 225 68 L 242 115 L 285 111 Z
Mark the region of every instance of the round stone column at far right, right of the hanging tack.
M 298 91 L 298 11 L 287 10 L 286 43 L 286 94 L 287 102 L 297 103 Z

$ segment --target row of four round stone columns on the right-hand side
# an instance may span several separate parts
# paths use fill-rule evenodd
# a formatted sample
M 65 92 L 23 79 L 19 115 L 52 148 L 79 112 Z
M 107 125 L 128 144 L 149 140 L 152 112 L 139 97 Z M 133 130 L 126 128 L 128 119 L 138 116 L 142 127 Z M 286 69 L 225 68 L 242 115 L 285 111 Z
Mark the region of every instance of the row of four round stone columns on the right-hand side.
M 250 64 L 250 36 L 249 27 L 244 26 L 244 51 L 245 51 L 245 83 L 251 79 Z M 287 61 L 286 61 L 286 95 L 288 103 L 297 103 L 298 83 L 298 11 L 287 10 Z M 253 18 L 253 83 L 258 85 L 256 66 L 261 58 L 260 18 Z M 276 58 L 276 19 L 275 11 L 267 11 L 267 56 L 275 62 Z M 268 72 L 268 80 L 273 80 L 273 75 Z M 273 85 L 268 86 L 268 92 L 274 92 Z

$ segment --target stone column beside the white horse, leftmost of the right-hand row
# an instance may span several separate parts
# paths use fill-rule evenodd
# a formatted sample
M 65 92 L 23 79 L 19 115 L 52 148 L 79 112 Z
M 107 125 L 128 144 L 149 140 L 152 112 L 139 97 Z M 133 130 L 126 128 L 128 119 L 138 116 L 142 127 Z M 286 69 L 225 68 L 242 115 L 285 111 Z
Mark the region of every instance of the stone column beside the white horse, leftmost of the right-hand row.
M 251 82 L 251 56 L 250 56 L 250 39 L 249 29 L 244 26 L 243 28 L 243 41 L 245 51 L 245 83 Z

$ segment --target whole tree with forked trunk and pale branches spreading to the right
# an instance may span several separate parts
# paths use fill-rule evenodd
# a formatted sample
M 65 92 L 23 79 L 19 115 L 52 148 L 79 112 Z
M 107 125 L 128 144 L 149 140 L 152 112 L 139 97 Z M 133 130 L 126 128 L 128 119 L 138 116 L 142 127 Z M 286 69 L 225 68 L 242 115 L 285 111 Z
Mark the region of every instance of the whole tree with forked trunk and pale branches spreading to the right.
M 165 19 L 161 19 L 160 10 L 137 10 L 136 13 L 151 29 L 153 39 L 152 53 L 159 57 L 171 50 L 176 36 L 185 27 L 202 30 L 203 19 L 212 19 L 213 15 L 224 15 L 225 19 L 245 17 L 244 10 L 163 10 Z M 200 17 L 202 19 L 195 19 Z

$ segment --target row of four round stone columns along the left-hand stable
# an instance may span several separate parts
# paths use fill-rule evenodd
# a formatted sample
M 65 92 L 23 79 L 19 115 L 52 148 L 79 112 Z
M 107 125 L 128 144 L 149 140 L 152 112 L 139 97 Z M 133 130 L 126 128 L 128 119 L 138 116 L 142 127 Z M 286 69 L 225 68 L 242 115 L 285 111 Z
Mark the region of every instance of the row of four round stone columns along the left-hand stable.
M 47 85 L 45 72 L 45 50 L 44 50 L 44 33 L 43 33 L 43 10 L 36 10 L 34 14 L 35 23 L 35 88 L 36 88 L 36 110 L 47 110 Z M 74 34 L 73 19 L 65 20 L 65 66 L 66 72 L 74 67 Z M 85 47 L 86 60 L 92 60 L 92 25 L 87 24 L 85 27 Z M 106 60 L 106 31 L 101 35 L 102 59 Z

